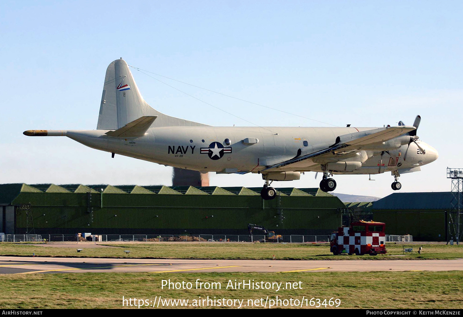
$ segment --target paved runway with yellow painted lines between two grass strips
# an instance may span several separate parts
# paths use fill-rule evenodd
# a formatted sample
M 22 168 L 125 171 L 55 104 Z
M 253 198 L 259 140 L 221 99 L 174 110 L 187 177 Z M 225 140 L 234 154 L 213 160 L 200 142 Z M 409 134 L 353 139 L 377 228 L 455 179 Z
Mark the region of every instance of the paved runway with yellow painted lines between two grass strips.
M 0 257 L 0 274 L 88 272 L 368 272 L 463 270 L 457 260 L 165 260 Z

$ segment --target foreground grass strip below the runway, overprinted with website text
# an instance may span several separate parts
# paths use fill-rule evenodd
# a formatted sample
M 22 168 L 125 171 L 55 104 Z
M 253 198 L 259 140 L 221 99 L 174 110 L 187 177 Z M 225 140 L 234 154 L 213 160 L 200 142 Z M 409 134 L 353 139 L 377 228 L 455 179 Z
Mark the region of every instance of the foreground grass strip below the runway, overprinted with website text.
M 192 282 L 191 290 L 161 290 L 161 280 Z M 195 289 L 196 279 L 220 282 L 221 289 Z M 299 282 L 302 289 L 233 290 L 228 280 Z M 350 273 L 80 273 L 0 275 L 0 309 L 122 308 L 122 297 L 155 300 L 225 298 L 281 299 L 339 298 L 340 308 L 454 308 L 463 309 L 463 272 Z M 334 300 L 333 299 L 333 300 Z M 261 302 L 262 303 L 262 302 Z M 305 302 L 304 302 L 305 304 Z M 238 305 L 238 304 L 237 304 Z M 318 305 L 318 304 L 316 304 Z M 163 305 L 159 305 L 161 308 Z M 189 308 L 193 308 L 193 306 Z M 222 306 L 223 307 L 223 306 Z M 267 306 L 268 307 L 268 306 Z M 324 308 L 324 306 L 322 306 Z M 132 307 L 133 308 L 133 307 Z M 137 308 L 137 307 L 135 307 Z M 309 307 L 310 308 L 310 307 Z M 150 308 L 145 308 L 150 309 Z

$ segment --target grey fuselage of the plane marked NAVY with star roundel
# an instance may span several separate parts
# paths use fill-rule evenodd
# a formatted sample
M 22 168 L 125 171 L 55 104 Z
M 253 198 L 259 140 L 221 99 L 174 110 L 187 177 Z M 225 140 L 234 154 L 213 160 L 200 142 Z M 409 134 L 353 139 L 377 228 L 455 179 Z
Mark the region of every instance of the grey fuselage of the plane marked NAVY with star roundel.
M 338 135 L 373 129 L 371 127 L 155 127 L 138 138 L 107 136 L 107 130 L 65 131 L 64 135 L 92 148 L 137 159 L 202 172 L 258 172 L 269 165 L 324 149 Z M 52 135 L 49 133 L 49 135 Z M 63 134 L 60 134 L 63 135 Z M 244 139 L 257 143 L 244 144 Z M 230 144 L 227 145 L 228 140 Z M 411 169 L 437 159 L 437 151 L 418 141 L 385 151 L 361 150 L 343 161 L 362 161 L 360 169 L 333 174 L 378 174 Z M 408 148 L 408 150 L 407 150 Z M 407 160 L 404 154 L 407 151 Z M 296 170 L 323 171 L 330 159 L 307 159 Z M 332 161 L 338 161 L 332 160 Z

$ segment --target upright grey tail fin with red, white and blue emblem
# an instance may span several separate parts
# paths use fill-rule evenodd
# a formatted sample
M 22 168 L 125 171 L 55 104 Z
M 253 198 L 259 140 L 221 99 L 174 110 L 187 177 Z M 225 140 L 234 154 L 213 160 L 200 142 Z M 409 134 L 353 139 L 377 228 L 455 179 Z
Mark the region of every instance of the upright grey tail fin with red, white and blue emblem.
M 151 108 L 140 94 L 125 60 L 116 59 L 106 69 L 96 128 L 117 130 L 144 116 L 157 116 L 151 127 L 205 126 L 201 123 L 174 118 Z

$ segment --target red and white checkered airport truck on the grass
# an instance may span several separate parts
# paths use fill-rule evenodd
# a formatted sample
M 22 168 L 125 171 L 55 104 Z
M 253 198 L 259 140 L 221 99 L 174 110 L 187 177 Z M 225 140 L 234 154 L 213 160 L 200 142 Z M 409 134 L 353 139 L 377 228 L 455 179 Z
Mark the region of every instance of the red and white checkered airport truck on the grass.
M 330 236 L 330 248 L 334 255 L 376 255 L 386 253 L 384 222 L 352 222 L 349 227 L 339 227 Z

